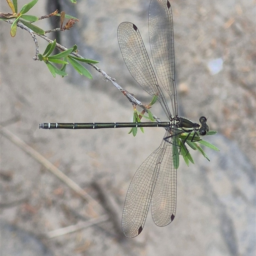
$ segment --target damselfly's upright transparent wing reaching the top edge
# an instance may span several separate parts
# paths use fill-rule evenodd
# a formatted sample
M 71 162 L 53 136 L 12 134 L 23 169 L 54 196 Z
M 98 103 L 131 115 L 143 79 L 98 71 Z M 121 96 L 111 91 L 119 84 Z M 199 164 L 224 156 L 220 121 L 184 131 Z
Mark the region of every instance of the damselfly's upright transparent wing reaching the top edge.
M 172 8 L 168 0 L 151 0 L 148 13 L 149 43 L 153 63 L 164 90 L 172 101 L 173 115 L 178 115 Z

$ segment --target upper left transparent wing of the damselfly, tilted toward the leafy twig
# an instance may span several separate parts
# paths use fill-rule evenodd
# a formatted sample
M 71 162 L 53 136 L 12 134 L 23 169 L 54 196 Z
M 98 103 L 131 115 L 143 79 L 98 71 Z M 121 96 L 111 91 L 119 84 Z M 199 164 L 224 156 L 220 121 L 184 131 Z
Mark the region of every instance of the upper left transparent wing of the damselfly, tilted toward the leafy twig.
M 164 94 L 158 86 L 139 29 L 133 23 L 123 22 L 117 29 L 117 38 L 124 62 L 132 77 L 151 96 L 158 94 L 158 100 L 169 118 L 171 116 L 170 110 L 166 104 Z

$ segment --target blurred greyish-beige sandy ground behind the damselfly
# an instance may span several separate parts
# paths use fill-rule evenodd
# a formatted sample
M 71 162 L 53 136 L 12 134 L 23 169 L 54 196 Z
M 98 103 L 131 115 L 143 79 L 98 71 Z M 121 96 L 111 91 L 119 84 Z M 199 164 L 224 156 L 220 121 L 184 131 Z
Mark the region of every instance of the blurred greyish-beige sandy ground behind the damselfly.
M 61 4 L 61 11 L 80 20 L 61 33 L 61 43 L 76 43 L 81 55 L 99 60 L 118 84 L 148 103 L 151 98 L 124 64 L 116 30 L 122 21 L 135 23 L 148 47 L 149 1 Z M 30 14 L 47 14 L 46 5 L 39 1 Z M 192 152 L 196 164 L 182 163 L 178 170 L 175 220 L 159 228 L 149 214 L 134 239 L 120 234 L 126 191 L 164 130 L 146 128 L 135 138 L 129 129 L 39 130 L 41 122 L 129 122 L 133 109 L 93 69 L 92 81 L 72 70 L 67 78 L 54 79 L 43 63 L 32 60 L 28 32 L 18 28 L 11 38 L 10 25 L 1 21 L 1 125 L 95 200 L 85 202 L 1 133 L 1 255 L 255 255 L 255 1 L 171 5 L 179 114 L 194 121 L 208 117 L 218 134 L 207 140 L 221 151 L 206 149 L 211 162 Z M 4 0 L 1 12 L 9 12 Z M 51 28 L 47 21 L 38 26 Z M 43 52 L 47 44 L 37 39 Z M 218 58 L 223 68 L 212 75 L 208 64 Z M 158 105 L 152 112 L 164 121 Z M 100 215 L 109 219 L 68 235 L 46 236 Z

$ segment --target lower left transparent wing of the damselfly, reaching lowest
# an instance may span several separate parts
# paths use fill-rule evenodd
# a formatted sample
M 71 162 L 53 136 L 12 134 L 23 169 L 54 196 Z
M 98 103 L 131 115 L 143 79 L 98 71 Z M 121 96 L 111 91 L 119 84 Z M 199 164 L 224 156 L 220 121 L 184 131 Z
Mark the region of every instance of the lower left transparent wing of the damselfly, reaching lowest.
M 165 136 L 168 134 L 169 132 L 167 131 Z M 169 158 L 172 159 L 172 144 L 163 140 L 159 148 L 148 156 L 134 174 L 128 188 L 122 216 L 122 229 L 125 236 L 135 237 L 142 231 L 148 214 L 152 194 L 154 194 L 155 184 L 157 183 L 159 187 L 159 182 L 157 181 L 159 172 L 164 171 L 166 164 L 172 166 L 172 163 L 167 160 Z M 169 167 L 168 170 L 170 170 Z M 169 188 L 170 187 L 171 186 L 169 186 Z M 176 182 L 175 189 L 172 190 L 176 191 Z M 167 195 L 169 194 L 167 193 L 166 196 Z M 156 207 L 158 205 L 159 204 L 157 204 Z M 158 212 L 155 213 L 158 214 Z

